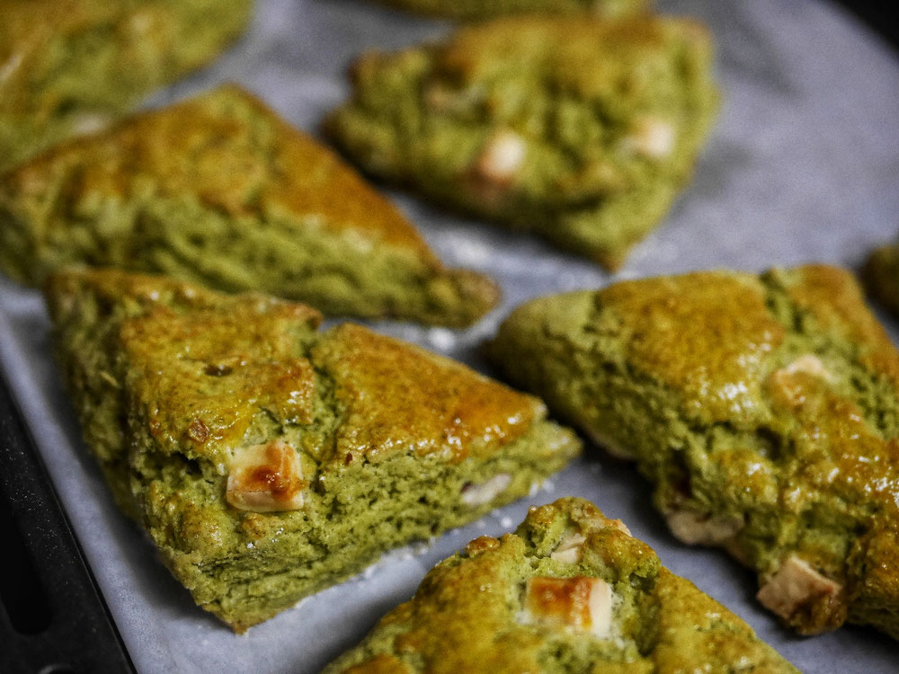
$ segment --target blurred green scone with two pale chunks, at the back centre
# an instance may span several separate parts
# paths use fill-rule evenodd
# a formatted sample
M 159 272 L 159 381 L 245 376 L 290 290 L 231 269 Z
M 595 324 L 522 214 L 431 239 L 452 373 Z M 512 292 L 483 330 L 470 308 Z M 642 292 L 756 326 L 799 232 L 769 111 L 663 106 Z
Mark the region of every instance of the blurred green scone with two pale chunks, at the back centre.
M 615 269 L 690 178 L 711 67 L 689 20 L 503 18 L 363 56 L 325 130 L 369 173 Z

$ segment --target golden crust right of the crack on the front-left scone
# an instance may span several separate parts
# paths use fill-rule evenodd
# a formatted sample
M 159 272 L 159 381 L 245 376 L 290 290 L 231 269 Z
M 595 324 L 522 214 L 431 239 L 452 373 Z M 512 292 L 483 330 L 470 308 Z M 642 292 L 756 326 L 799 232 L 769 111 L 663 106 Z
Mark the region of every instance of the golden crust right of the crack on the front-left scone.
M 484 457 L 546 413 L 530 395 L 360 325 L 335 328 L 310 355 L 334 377 L 347 411 L 339 460 L 382 461 L 410 442 L 419 456 Z

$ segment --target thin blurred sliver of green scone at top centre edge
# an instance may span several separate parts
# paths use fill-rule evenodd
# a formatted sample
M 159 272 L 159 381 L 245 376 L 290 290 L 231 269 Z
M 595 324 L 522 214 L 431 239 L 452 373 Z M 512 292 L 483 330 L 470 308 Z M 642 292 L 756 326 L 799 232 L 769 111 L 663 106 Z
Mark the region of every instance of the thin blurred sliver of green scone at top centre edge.
M 645 13 L 650 0 L 382 0 L 407 12 L 471 21 L 524 12 L 619 17 Z

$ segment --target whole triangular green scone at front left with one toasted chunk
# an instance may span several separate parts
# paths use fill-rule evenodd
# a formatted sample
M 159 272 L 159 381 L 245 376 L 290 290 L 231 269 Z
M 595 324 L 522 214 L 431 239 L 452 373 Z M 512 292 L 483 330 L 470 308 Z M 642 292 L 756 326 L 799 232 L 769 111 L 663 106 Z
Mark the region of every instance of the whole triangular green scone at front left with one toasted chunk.
M 243 631 L 529 492 L 573 457 L 539 400 L 261 295 L 116 270 L 46 296 L 85 439 L 201 607 Z

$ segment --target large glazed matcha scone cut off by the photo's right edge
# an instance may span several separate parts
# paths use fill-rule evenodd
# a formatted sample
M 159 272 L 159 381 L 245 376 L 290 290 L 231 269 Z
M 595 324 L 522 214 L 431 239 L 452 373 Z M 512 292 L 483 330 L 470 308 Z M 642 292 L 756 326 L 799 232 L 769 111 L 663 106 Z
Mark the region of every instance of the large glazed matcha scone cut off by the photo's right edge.
M 642 279 L 516 309 L 492 344 L 654 483 L 674 536 L 758 572 L 802 634 L 899 638 L 899 353 L 849 272 Z

